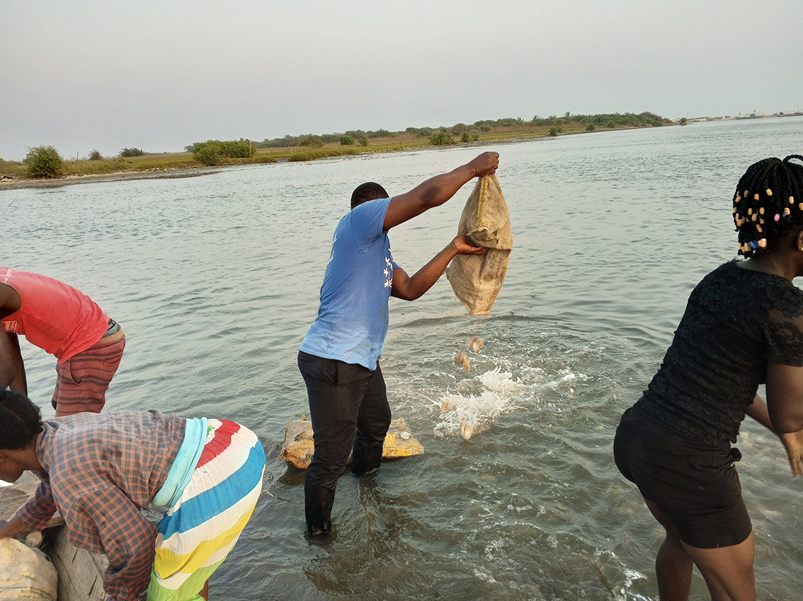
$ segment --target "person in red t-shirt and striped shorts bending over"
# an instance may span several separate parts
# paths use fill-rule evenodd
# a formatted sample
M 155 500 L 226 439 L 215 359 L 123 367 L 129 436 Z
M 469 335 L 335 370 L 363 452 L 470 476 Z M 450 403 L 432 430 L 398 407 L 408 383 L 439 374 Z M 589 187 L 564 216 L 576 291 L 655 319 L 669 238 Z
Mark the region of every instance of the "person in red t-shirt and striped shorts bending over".
M 84 292 L 39 273 L 0 267 L 0 388 L 27 394 L 18 334 L 56 357 L 57 417 L 100 413 L 125 335 Z

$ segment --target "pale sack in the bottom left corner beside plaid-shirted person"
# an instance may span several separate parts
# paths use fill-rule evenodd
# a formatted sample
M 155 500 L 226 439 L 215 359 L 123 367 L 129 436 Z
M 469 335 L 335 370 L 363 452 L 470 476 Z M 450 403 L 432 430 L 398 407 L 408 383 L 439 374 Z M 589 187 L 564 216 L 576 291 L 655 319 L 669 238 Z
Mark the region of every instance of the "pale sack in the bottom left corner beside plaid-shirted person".
M 0 601 L 55 601 L 57 579 L 42 551 L 0 538 Z

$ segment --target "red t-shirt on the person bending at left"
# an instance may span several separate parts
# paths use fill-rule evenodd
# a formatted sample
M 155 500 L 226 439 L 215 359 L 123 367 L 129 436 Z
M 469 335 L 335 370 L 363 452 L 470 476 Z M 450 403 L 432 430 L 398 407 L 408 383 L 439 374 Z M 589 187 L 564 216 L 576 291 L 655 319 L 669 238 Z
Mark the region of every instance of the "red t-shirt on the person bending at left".
M 108 315 L 94 300 L 55 278 L 0 267 L 0 283 L 22 300 L 18 311 L 0 320 L 3 328 L 24 334 L 59 363 L 94 345 L 108 329 Z

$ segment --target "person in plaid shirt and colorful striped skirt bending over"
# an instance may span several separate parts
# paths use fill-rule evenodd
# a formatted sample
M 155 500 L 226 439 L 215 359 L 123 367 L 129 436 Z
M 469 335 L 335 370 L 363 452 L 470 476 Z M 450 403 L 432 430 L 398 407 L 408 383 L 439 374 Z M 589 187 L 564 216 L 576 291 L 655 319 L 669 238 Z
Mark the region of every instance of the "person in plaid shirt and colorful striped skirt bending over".
M 75 547 L 104 553 L 107 599 L 208 598 L 262 489 L 265 452 L 225 419 L 159 411 L 77 413 L 45 422 L 22 393 L 0 390 L 0 478 L 42 480 L 0 537 L 41 528 L 55 510 Z M 141 509 L 161 508 L 158 526 Z

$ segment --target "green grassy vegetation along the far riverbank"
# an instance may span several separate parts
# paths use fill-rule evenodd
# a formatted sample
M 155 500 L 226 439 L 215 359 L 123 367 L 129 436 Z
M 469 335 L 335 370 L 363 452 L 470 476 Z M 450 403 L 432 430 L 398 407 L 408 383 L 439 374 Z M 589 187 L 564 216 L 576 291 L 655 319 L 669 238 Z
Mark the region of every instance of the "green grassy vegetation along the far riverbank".
M 253 144 L 251 156 L 242 158 L 222 157 L 218 166 L 251 163 L 275 163 L 276 161 L 309 161 L 328 157 L 357 155 L 362 152 L 393 151 L 400 149 L 432 147 L 444 144 L 490 143 L 519 138 L 540 138 L 554 135 L 577 134 L 591 131 L 607 131 L 624 127 L 654 127 L 669 125 L 653 113 L 614 113 L 606 115 L 555 115 L 541 118 L 538 115 L 529 121 L 524 119 L 496 119 L 477 121 L 474 124 L 457 123 L 451 127 L 408 127 L 405 131 L 353 130 L 335 134 L 298 136 L 265 139 Z M 248 142 L 240 140 L 240 142 Z M 352 142 L 351 144 L 347 142 Z M 250 143 L 250 142 L 249 142 Z M 188 147 L 190 149 L 191 147 Z M 128 149 L 139 150 L 139 149 Z M 131 153 L 126 153 L 131 154 Z M 130 171 L 165 171 L 205 167 L 190 151 L 116 156 L 97 159 L 65 159 L 61 167 L 63 175 L 104 175 Z M 28 166 L 22 161 L 0 159 L 0 174 L 28 177 Z

